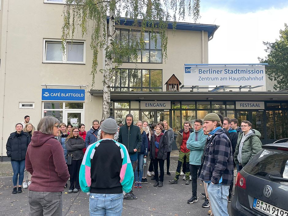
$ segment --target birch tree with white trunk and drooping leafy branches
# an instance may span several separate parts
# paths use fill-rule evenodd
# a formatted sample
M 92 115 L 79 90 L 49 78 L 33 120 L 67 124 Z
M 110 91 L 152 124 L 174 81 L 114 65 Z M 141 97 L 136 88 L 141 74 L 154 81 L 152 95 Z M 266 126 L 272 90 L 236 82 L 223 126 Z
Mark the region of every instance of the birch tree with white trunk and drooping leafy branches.
M 197 21 L 199 8 L 200 0 L 66 0 L 63 9 L 63 50 L 65 50 L 65 40 L 73 40 L 76 31 L 80 30 L 82 37 L 91 35 L 92 86 L 95 84 L 95 74 L 103 73 L 102 119 L 106 119 L 110 114 L 110 89 L 113 74 L 121 66 L 123 59 L 132 58 L 137 62 L 137 51 L 145 47 L 144 31 L 151 32 L 151 40 L 155 44 L 157 44 L 157 35 L 160 36 L 162 56 L 165 61 L 169 22 L 172 22 L 173 29 L 175 29 L 176 21 L 179 19 L 184 20 L 190 16 Z M 140 35 L 132 34 L 129 42 L 115 40 L 117 36 L 115 25 L 119 24 L 119 17 L 132 20 L 129 28 L 140 30 Z M 109 23 L 108 26 L 107 23 Z M 97 58 L 100 50 L 105 51 L 105 67 L 98 70 Z

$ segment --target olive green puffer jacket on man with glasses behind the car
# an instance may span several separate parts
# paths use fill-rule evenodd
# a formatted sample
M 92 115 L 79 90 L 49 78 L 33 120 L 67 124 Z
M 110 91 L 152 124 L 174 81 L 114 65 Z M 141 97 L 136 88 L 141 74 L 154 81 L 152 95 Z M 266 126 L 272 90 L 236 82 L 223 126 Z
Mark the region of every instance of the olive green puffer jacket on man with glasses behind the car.
M 252 159 L 261 149 L 262 149 L 262 142 L 260 141 L 261 133 L 255 129 L 252 129 L 254 133 L 252 133 L 243 143 L 242 147 L 242 166 L 245 166 L 248 161 Z M 234 153 L 234 161 L 236 164 L 239 164 L 237 160 L 239 145 L 241 139 L 243 137 L 243 132 L 240 132 L 238 135 L 237 146 Z

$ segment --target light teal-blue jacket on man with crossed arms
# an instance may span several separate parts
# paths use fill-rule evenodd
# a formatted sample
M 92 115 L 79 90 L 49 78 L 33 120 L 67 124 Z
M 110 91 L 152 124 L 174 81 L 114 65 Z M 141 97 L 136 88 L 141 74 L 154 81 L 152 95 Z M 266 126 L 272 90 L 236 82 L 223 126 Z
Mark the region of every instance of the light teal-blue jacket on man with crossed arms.
M 197 133 L 197 141 L 195 136 Z M 204 135 L 202 129 L 192 132 L 187 140 L 187 149 L 190 150 L 189 164 L 201 165 L 201 157 L 203 155 L 204 146 L 206 143 L 207 135 Z

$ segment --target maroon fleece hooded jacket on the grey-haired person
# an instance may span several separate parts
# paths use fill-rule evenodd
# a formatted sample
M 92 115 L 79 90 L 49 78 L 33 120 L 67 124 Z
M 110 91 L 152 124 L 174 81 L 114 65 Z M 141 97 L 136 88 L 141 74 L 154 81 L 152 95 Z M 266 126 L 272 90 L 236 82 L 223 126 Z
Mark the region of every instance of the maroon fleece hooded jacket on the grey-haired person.
M 64 191 L 69 179 L 60 142 L 53 135 L 35 131 L 26 153 L 26 170 L 32 174 L 30 191 Z

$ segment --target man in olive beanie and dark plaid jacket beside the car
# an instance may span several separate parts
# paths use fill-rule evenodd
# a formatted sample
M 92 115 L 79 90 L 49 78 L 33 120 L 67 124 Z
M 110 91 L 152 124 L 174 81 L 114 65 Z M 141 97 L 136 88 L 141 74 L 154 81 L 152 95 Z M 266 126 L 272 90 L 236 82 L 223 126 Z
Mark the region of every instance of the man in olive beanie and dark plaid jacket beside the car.
M 210 131 L 211 138 L 204 149 L 198 177 L 207 184 L 213 214 L 229 216 L 227 204 L 234 168 L 231 142 L 216 113 L 209 113 L 204 117 L 203 127 Z

